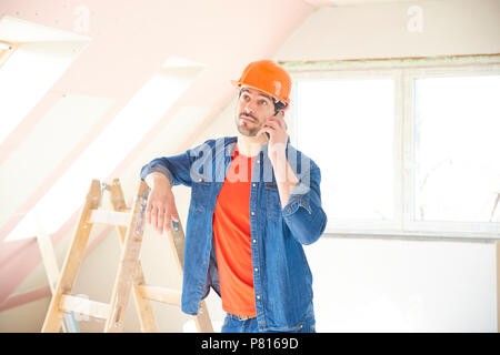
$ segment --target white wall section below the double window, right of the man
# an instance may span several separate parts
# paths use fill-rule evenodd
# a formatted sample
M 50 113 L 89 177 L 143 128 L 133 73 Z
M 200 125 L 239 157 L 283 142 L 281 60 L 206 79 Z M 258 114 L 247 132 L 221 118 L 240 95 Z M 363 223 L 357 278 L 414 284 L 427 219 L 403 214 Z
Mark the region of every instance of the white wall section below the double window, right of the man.
M 318 332 L 496 332 L 487 243 L 333 239 L 306 247 Z

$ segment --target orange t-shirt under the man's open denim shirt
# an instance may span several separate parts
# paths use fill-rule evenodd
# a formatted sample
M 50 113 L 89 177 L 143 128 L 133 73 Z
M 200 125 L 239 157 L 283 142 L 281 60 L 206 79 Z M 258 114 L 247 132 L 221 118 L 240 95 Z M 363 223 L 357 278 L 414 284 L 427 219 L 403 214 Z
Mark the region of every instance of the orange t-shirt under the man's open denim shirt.
M 254 158 L 234 150 L 217 197 L 213 235 L 222 310 L 254 317 L 253 274 L 250 244 L 250 183 Z

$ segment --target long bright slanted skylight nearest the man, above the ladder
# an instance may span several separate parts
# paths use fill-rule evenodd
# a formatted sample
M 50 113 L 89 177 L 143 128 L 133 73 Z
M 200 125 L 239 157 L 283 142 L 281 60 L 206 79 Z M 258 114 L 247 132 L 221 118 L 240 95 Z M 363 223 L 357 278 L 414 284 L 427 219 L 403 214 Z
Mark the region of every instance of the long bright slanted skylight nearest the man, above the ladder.
M 68 221 L 84 201 L 89 181 L 91 179 L 103 181 L 107 176 L 110 176 L 123 155 L 128 154 L 144 134 L 158 123 L 203 69 L 202 65 L 177 65 L 177 63 L 164 65 L 146 82 L 113 121 L 73 162 L 71 168 L 59 178 L 49 192 L 16 225 L 6 237 L 7 242 L 36 235 L 37 219 L 44 222 L 44 227 L 49 234 L 56 233 L 62 223 Z M 92 105 L 97 106 L 93 102 L 96 99 L 92 100 L 92 98 L 83 97 L 79 99 L 76 95 L 70 95 L 67 100 L 71 100 L 69 104 L 66 104 L 67 106 L 81 106 L 86 102 L 92 102 Z M 102 100 L 102 103 L 100 103 L 101 112 L 108 109 L 109 104 L 111 104 L 109 100 Z M 86 112 L 84 110 L 81 111 Z M 188 130 L 191 128 L 191 125 L 180 124 L 180 122 L 186 122 L 187 115 L 190 119 L 197 118 L 192 119 L 193 125 L 206 116 L 204 111 L 191 111 L 194 114 L 180 110 L 180 113 L 183 114 L 173 116 L 166 130 L 172 132 L 171 134 L 179 134 L 179 126 L 186 126 Z

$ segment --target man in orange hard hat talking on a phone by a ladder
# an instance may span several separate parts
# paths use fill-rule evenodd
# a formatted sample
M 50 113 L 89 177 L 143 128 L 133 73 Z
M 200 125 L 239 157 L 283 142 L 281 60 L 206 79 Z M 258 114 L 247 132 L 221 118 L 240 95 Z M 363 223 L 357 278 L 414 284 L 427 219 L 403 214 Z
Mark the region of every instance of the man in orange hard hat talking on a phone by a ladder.
M 314 332 L 312 275 L 302 244 L 323 233 L 320 169 L 293 149 L 282 119 L 290 75 L 270 60 L 239 81 L 238 135 L 209 140 L 144 165 L 147 221 L 179 221 L 172 185 L 191 187 L 182 311 L 194 315 L 212 287 L 227 312 L 222 332 Z

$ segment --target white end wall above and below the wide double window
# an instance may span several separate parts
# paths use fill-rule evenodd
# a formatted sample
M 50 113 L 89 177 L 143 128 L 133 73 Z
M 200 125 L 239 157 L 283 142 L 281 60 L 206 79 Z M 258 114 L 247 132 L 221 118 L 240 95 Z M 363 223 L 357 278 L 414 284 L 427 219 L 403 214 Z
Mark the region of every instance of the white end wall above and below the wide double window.
M 422 32 L 410 32 L 418 6 Z M 500 1 L 416 1 L 312 13 L 278 60 L 500 52 Z M 323 235 L 306 252 L 318 332 L 497 332 L 493 243 Z

